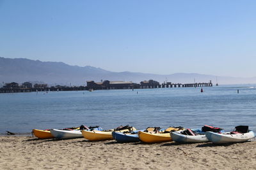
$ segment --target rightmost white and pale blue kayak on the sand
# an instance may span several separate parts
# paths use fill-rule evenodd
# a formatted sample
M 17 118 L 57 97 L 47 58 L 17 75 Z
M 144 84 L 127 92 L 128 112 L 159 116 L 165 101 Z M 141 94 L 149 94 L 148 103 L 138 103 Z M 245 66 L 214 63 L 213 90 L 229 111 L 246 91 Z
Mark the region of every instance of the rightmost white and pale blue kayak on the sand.
M 214 132 L 205 132 L 205 136 L 212 143 L 239 143 L 245 142 L 249 139 L 255 138 L 255 133 L 253 131 L 248 131 L 246 133 L 232 134 L 231 132 L 227 133 L 214 133 Z

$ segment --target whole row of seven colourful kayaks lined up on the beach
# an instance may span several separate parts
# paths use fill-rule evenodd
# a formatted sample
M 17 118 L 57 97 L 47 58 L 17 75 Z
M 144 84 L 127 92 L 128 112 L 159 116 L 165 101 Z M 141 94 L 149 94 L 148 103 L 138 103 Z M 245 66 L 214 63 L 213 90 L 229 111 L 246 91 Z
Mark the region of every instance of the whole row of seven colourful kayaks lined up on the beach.
M 72 139 L 85 138 L 89 141 L 102 141 L 115 139 L 119 143 L 138 142 L 160 143 L 175 141 L 178 143 L 238 143 L 255 138 L 255 133 L 248 126 L 237 126 L 232 132 L 224 132 L 223 129 L 204 125 L 201 129 L 184 129 L 184 127 L 148 127 L 137 131 L 129 125 L 116 127 L 116 129 L 102 130 L 101 127 L 76 127 L 68 129 L 33 129 L 37 138 Z

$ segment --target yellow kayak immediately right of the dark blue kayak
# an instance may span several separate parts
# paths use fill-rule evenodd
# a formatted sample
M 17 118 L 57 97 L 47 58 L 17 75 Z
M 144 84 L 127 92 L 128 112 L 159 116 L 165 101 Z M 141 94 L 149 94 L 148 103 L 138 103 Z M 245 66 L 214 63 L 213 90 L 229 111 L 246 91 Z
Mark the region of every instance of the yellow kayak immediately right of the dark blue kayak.
M 180 131 L 184 129 L 183 127 L 168 127 L 164 131 L 148 131 L 148 132 L 138 132 L 138 136 L 141 141 L 145 143 L 160 143 L 172 141 L 170 136 L 171 131 Z

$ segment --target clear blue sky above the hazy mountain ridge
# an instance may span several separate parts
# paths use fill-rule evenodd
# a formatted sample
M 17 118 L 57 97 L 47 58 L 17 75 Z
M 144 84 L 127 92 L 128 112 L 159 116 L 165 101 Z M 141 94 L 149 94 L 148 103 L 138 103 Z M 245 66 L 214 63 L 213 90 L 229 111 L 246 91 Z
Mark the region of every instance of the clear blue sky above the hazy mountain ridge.
M 0 0 L 0 56 L 256 76 L 256 1 Z

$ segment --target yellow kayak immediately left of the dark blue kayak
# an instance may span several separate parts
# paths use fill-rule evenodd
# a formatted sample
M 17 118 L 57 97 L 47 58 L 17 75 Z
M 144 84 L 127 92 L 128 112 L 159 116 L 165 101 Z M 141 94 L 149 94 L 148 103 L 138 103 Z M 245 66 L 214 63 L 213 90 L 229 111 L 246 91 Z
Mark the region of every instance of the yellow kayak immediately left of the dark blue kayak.
M 116 131 L 115 129 L 110 129 L 106 131 L 82 131 L 82 134 L 85 139 L 89 141 L 104 141 L 113 139 L 112 132 L 127 132 L 127 131 L 136 131 L 135 127 L 132 129 L 123 129 L 120 131 Z

